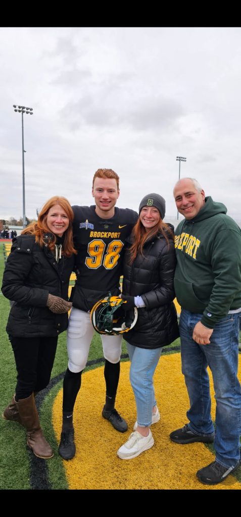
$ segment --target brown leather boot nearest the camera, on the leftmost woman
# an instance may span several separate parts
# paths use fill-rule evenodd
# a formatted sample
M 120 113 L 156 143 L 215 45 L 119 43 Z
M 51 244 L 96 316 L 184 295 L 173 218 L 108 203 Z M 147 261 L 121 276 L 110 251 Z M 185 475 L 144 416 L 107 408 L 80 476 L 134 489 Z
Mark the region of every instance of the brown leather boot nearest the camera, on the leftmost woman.
M 40 427 L 38 412 L 35 405 L 34 393 L 27 399 L 16 402 L 23 427 L 27 430 L 27 445 L 35 456 L 47 460 L 52 458 L 54 453 L 47 440 L 43 436 Z

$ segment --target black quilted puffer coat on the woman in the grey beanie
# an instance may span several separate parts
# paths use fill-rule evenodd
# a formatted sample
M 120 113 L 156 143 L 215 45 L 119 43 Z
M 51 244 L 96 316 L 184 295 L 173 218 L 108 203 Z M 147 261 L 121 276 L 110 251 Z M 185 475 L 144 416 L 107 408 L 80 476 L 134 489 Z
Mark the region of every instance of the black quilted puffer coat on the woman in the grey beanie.
M 138 309 L 138 320 L 132 330 L 123 334 L 128 343 L 140 348 L 169 345 L 179 336 L 173 278 L 176 266 L 174 242 L 160 233 L 147 240 L 143 255 L 129 264 L 124 257 L 123 294 L 141 296 L 145 307 Z

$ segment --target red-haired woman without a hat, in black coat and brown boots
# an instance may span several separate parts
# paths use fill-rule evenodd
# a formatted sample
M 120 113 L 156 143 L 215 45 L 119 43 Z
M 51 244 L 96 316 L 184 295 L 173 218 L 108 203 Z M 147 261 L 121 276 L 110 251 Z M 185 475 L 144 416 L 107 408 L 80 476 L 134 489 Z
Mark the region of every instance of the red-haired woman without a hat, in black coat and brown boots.
M 3 417 L 27 430 L 27 445 L 39 458 L 52 458 L 35 405 L 50 381 L 58 335 L 68 326 L 68 286 L 74 263 L 73 211 L 65 197 L 51 197 L 38 221 L 13 239 L 2 292 L 11 300 L 7 333 L 17 368 L 16 393 Z

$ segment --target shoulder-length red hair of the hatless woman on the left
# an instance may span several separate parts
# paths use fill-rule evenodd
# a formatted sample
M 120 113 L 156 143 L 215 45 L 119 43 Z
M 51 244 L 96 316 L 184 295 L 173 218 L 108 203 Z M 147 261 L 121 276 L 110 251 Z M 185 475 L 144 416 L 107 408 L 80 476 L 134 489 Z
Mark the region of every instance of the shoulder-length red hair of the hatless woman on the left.
M 44 234 L 46 232 L 50 232 L 50 229 L 47 225 L 47 216 L 50 208 L 52 208 L 54 205 L 59 205 L 63 210 L 66 212 L 68 218 L 69 218 L 69 226 L 67 230 L 64 232 L 64 242 L 63 242 L 63 255 L 66 255 L 67 257 L 71 256 L 73 253 L 77 253 L 77 251 L 73 247 L 73 231 L 72 231 L 72 222 L 73 222 L 73 210 L 66 199 L 66 197 L 62 196 L 53 196 L 47 201 L 38 216 L 37 222 L 32 222 L 28 224 L 28 226 L 21 232 L 22 235 L 24 234 L 31 234 L 35 235 L 35 242 L 41 248 L 45 244 L 44 241 Z M 52 233 L 52 232 L 51 232 Z M 51 241 L 49 242 L 48 246 L 50 250 L 52 251 L 54 249 L 56 243 L 56 235 L 53 234 L 53 237 Z

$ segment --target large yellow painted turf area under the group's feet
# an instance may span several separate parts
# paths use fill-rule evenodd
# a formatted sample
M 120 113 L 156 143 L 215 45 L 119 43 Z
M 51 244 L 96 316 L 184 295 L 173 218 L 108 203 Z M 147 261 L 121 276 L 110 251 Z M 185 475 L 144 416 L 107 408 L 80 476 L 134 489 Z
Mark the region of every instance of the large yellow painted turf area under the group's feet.
M 163 355 L 155 373 L 155 392 L 161 420 L 152 425 L 154 447 L 132 460 L 120 460 L 117 449 L 123 445 L 135 421 L 135 402 L 129 382 L 129 362 L 122 362 L 116 408 L 126 418 L 129 430 L 118 433 L 101 417 L 105 383 L 103 367 L 82 375 L 82 386 L 74 409 L 77 453 L 71 461 L 63 461 L 71 490 L 229 490 L 241 489 L 241 483 L 229 476 L 215 486 L 203 485 L 195 473 L 214 461 L 204 444 L 178 445 L 169 433 L 187 422 L 189 407 L 180 354 Z M 241 373 L 239 366 L 239 373 Z M 213 383 L 212 417 L 215 401 Z M 61 433 L 62 396 L 59 391 L 53 406 L 53 425 L 57 440 Z

